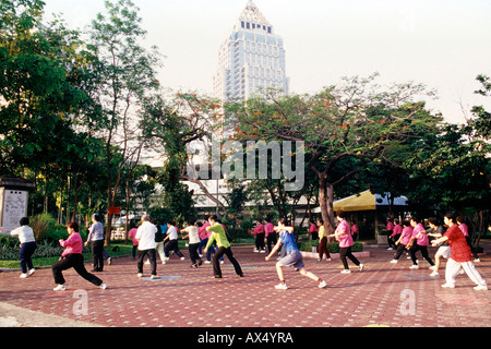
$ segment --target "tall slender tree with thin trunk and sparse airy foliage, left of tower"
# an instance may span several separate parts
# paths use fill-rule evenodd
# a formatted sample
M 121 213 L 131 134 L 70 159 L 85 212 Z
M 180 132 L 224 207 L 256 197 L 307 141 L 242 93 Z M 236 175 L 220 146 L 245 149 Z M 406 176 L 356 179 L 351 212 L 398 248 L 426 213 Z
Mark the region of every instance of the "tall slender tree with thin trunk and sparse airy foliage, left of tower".
M 130 0 L 106 1 L 106 14 L 92 22 L 91 44 L 95 71 L 93 81 L 99 99 L 101 119 L 93 130 L 106 144 L 107 204 L 115 205 L 125 164 L 137 164 L 143 140 L 139 132 L 137 109 L 144 98 L 158 88 L 156 67 L 159 55 L 141 45 L 146 32 L 141 27 L 139 9 Z M 115 151 L 121 151 L 115 161 Z M 109 242 L 112 215 L 108 215 L 106 241 Z

